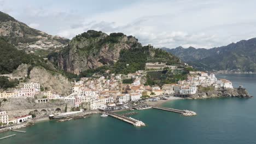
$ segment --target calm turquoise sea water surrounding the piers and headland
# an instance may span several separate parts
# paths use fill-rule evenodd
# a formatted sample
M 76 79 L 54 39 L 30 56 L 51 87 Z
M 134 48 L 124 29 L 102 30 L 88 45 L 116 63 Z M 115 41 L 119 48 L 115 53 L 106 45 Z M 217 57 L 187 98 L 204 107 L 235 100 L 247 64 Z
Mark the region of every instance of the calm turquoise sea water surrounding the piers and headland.
M 218 75 L 234 86 L 243 85 L 256 96 L 256 75 Z M 176 100 L 163 106 L 188 109 L 195 117 L 177 113 L 144 110 L 131 116 L 147 124 L 136 128 L 112 117 L 94 115 L 63 123 L 40 122 L 22 128 L 27 133 L 9 131 L 0 137 L 17 134 L 0 143 L 256 143 L 256 97 Z

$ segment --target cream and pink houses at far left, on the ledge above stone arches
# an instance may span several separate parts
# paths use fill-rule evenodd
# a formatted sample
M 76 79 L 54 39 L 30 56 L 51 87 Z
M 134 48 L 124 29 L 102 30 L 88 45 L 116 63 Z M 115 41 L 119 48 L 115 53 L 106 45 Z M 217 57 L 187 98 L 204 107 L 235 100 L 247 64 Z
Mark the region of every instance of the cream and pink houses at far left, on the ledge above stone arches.
M 34 98 L 37 92 L 40 92 L 40 83 L 24 83 L 24 86 L 20 89 L 0 92 L 0 98 Z

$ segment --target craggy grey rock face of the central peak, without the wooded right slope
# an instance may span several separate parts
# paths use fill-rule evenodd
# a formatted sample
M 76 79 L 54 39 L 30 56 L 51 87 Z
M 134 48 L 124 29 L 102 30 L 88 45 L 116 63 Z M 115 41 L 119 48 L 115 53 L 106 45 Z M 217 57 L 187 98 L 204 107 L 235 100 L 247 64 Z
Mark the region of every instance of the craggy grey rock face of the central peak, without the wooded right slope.
M 103 65 L 113 65 L 118 61 L 122 50 L 141 46 L 135 37 L 123 33 L 88 31 L 77 35 L 55 59 L 61 69 L 79 74 L 87 69 L 96 69 Z M 50 58 L 54 61 L 53 58 Z

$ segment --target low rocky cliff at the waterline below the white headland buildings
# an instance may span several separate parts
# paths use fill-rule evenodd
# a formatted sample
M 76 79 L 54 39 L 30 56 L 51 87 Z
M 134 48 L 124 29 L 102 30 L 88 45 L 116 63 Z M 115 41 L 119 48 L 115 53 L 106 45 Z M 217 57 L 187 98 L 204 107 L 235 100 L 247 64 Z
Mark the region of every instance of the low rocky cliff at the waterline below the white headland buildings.
M 251 98 L 245 88 L 234 88 L 227 89 L 226 91 L 208 91 L 190 95 L 189 98 L 200 99 L 200 98 L 214 98 L 214 97 L 240 97 L 240 98 Z

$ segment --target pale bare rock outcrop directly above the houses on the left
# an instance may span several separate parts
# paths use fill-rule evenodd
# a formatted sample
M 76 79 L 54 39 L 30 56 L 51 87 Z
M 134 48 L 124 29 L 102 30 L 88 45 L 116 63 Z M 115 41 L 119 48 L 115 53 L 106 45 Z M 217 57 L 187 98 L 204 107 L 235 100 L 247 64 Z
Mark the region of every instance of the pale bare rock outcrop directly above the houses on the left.
M 42 67 L 34 67 L 30 71 L 29 82 L 38 82 L 41 87 L 54 90 L 58 94 L 69 95 L 72 92 L 72 84 L 60 73 L 45 70 Z

